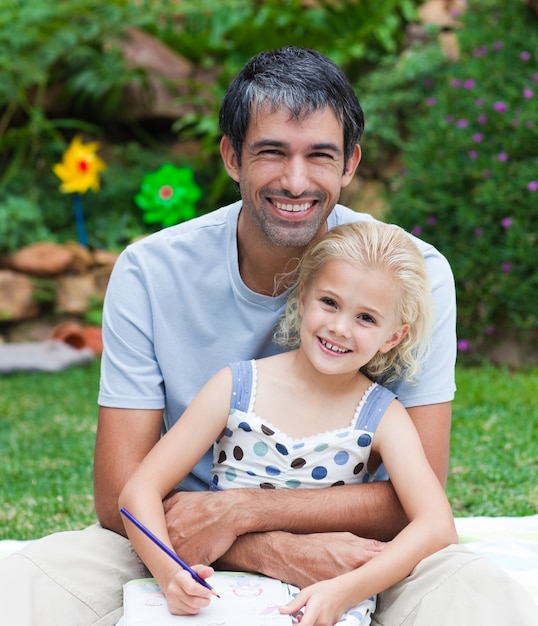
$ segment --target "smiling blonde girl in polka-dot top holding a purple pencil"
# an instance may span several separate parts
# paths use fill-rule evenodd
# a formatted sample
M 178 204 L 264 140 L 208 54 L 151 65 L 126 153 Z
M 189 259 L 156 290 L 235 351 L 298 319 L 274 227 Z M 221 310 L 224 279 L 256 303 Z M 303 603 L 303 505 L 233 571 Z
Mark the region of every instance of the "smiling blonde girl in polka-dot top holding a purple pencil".
M 171 547 L 162 500 L 215 441 L 215 489 L 366 482 L 383 462 L 408 526 L 358 569 L 304 588 L 280 609 L 289 615 L 303 609 L 303 626 L 335 624 L 457 542 L 416 430 L 379 384 L 416 375 L 427 352 L 430 309 L 422 255 L 397 226 L 356 222 L 313 241 L 276 334 L 279 344 L 295 349 L 218 372 L 134 472 L 120 506 Z M 131 523 L 126 529 L 172 613 L 194 614 L 209 603 L 208 589 Z M 213 572 L 195 569 L 203 578 Z

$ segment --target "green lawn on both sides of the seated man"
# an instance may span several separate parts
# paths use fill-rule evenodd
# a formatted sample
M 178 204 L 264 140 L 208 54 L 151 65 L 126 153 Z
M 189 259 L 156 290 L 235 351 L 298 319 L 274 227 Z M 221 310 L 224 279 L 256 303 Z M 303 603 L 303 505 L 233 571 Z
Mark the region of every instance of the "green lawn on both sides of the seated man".
M 99 362 L 0 377 L 0 539 L 95 520 Z M 456 516 L 538 510 L 538 369 L 458 368 L 447 492 Z

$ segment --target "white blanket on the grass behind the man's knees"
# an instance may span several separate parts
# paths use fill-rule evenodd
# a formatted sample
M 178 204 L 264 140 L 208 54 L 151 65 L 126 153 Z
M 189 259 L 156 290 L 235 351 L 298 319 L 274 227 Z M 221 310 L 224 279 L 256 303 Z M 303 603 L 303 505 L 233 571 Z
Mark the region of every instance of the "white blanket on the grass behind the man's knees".
M 538 605 L 538 514 L 528 517 L 459 517 L 460 543 L 515 578 Z M 0 541 L 0 558 L 28 541 Z

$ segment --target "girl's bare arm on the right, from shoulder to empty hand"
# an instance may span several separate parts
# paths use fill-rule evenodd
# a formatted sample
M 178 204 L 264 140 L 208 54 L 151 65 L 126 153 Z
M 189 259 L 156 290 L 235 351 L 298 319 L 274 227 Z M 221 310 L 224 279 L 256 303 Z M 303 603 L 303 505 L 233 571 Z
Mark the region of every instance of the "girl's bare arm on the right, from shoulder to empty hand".
M 301 626 L 336 623 L 344 611 L 404 579 L 422 559 L 458 541 L 446 495 L 399 402 L 383 416 L 372 451 L 383 459 L 410 522 L 362 567 L 306 587 L 287 604 L 282 612 L 288 614 L 306 606 Z

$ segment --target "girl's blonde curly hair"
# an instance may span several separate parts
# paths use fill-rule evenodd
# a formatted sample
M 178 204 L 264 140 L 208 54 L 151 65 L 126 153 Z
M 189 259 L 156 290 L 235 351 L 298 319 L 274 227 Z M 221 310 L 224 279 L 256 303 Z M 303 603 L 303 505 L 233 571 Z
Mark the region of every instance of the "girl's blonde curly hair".
M 289 348 L 300 345 L 300 285 L 308 287 L 329 261 L 345 261 L 358 270 L 386 272 L 394 281 L 399 289 L 399 322 L 408 324 L 409 331 L 397 346 L 376 354 L 361 371 L 384 384 L 394 380 L 412 382 L 429 352 L 432 299 L 424 258 L 412 237 L 399 226 L 352 222 L 312 241 L 292 274 L 294 286 L 275 342 Z M 286 278 L 290 280 L 291 276 Z

